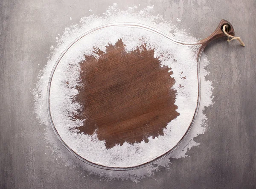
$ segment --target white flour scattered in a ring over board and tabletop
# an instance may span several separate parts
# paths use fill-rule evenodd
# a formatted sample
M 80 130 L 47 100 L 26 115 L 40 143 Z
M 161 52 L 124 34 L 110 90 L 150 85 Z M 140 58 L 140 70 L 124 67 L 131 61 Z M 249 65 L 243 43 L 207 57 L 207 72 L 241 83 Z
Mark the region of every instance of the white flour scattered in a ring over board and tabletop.
M 64 49 L 73 42 L 74 39 L 90 31 L 93 28 L 117 22 L 129 22 L 148 25 L 155 28 L 175 39 L 186 42 L 197 41 L 194 37 L 189 36 L 184 30 L 178 29 L 171 22 L 167 22 L 160 15 L 154 15 L 154 8 L 148 7 L 139 10 L 136 6 L 129 7 L 128 10 L 119 10 L 117 5 L 110 6 L 102 16 L 92 14 L 89 17 L 81 18 L 77 25 L 65 28 L 64 33 L 58 36 L 58 45 L 55 49 L 51 47 L 52 53 L 49 56 L 47 65 L 41 71 L 38 77 L 38 83 L 34 90 L 35 95 L 35 113 L 42 124 L 47 125 L 45 137 L 49 142 L 54 153 L 62 158 L 66 165 L 82 166 L 90 174 L 99 174 L 108 179 L 131 179 L 138 181 L 145 176 L 150 176 L 160 167 L 169 167 L 169 158 L 186 157 L 188 149 L 199 145 L 193 140 L 199 134 L 203 134 L 206 129 L 206 116 L 203 113 L 204 107 L 212 104 L 212 85 L 204 77 L 208 72 L 204 69 L 209 64 L 204 53 L 201 56 L 201 104 L 195 123 L 189 134 L 183 142 L 169 154 L 167 157 L 140 169 L 127 170 L 122 172 L 108 171 L 89 166 L 71 155 L 64 147 L 60 147 L 55 133 L 49 123 L 47 114 L 47 86 L 49 76 L 58 57 Z M 169 31 L 174 31 L 170 33 Z M 132 34 L 132 35 L 131 35 Z M 127 52 L 134 51 L 138 46 L 146 44 L 147 50 L 154 49 L 154 56 L 159 57 L 163 66 L 168 66 L 173 72 L 175 78 L 174 90 L 177 90 L 175 105 L 177 113 L 180 115 L 172 120 L 166 128 L 163 129 L 163 135 L 156 138 L 148 137 L 148 141 L 129 144 L 125 142 L 122 145 L 115 145 L 110 149 L 105 147 L 105 142 L 99 140 L 96 134 L 86 135 L 77 133 L 77 128 L 83 123 L 82 120 L 73 120 L 70 113 L 81 109 L 81 104 L 74 103 L 72 98 L 78 93 L 76 86 L 79 86 L 79 62 L 84 60 L 84 56 L 97 56 L 93 48 L 99 48 L 106 51 L 106 46 L 115 44 L 119 39 L 125 43 Z M 141 40 L 143 39 L 143 40 Z M 92 161 L 96 164 L 110 167 L 130 167 L 144 164 L 152 161 L 160 155 L 168 152 L 175 147 L 177 142 L 182 138 L 191 122 L 195 112 L 198 95 L 197 88 L 197 61 L 195 51 L 196 46 L 181 46 L 163 39 L 157 34 L 143 30 L 141 28 L 121 28 L 109 27 L 101 31 L 90 34 L 71 48 L 59 63 L 52 78 L 50 93 L 50 108 L 52 120 L 63 141 L 82 158 Z M 63 74 L 64 73 L 64 74 Z M 68 85 L 67 85 L 68 83 Z M 187 118 L 189 117 L 189 118 Z M 61 150 L 60 150 L 61 149 Z

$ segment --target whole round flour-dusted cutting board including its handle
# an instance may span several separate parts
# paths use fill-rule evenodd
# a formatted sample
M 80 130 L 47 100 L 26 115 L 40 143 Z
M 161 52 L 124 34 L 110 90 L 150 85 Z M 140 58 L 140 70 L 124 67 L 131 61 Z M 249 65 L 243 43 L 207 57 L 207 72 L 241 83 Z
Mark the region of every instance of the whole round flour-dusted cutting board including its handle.
M 134 169 L 172 152 L 200 102 L 199 60 L 224 36 L 181 42 L 137 23 L 82 34 L 57 60 L 47 105 L 58 138 L 80 160 L 103 169 Z

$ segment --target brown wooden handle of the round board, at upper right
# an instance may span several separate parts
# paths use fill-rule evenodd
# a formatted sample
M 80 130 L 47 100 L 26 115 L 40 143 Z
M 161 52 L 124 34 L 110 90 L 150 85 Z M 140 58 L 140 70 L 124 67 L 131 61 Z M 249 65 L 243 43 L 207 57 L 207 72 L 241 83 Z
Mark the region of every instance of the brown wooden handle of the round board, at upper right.
M 234 36 L 235 35 L 235 31 L 233 26 L 230 24 L 230 22 L 228 22 L 227 20 L 221 20 L 221 22 L 219 23 L 218 27 L 215 29 L 215 31 L 206 39 L 203 39 L 201 41 L 198 42 L 198 44 L 202 44 L 201 46 L 201 50 L 204 50 L 204 48 L 206 47 L 206 45 L 209 44 L 209 42 L 211 42 L 214 39 L 218 39 L 220 37 L 225 37 L 224 32 L 222 31 L 223 26 L 224 25 L 228 25 L 227 28 L 227 33 Z

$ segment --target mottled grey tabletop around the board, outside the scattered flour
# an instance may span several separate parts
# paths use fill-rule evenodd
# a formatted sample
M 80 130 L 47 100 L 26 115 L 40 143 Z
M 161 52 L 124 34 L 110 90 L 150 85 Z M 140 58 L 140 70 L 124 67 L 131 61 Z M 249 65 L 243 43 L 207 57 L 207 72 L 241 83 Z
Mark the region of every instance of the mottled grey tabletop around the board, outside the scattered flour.
M 210 127 L 196 138 L 201 145 L 189 157 L 172 160 L 172 169 L 139 183 L 104 181 L 79 166 L 59 165 L 46 147 L 45 126 L 32 113 L 31 91 L 57 34 L 89 9 L 102 13 L 112 3 L 124 9 L 155 5 L 156 14 L 180 18 L 180 27 L 197 38 L 226 19 L 246 44 L 218 39 L 207 46 L 208 79 L 215 87 L 215 104 L 205 110 Z M 1 0 L 0 189 L 256 188 L 255 17 L 255 0 Z

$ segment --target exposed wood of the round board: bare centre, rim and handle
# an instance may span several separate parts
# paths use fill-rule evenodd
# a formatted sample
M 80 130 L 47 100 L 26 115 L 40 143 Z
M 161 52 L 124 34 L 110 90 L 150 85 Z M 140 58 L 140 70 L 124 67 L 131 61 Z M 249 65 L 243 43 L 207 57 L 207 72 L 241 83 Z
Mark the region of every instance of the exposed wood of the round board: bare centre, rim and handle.
M 73 155 L 88 164 L 103 169 L 115 170 L 135 169 L 145 166 L 171 153 L 186 137 L 198 112 L 201 96 L 199 72 L 201 53 L 209 42 L 225 36 L 222 31 L 225 24 L 228 25 L 228 34 L 234 35 L 232 25 L 226 20 L 221 20 L 217 29 L 209 37 L 198 42 L 182 42 L 156 31 L 154 28 L 136 23 L 108 24 L 81 35 L 61 54 L 49 79 L 47 91 L 48 113 L 52 127 L 62 144 Z M 195 48 L 198 62 L 198 93 L 195 96 L 197 102 L 194 113 L 188 117 L 191 121 L 189 121 L 186 131 L 168 151 L 137 166 L 110 167 L 82 157 L 62 139 L 55 127 L 55 121 L 51 113 L 52 78 L 61 59 L 82 38 L 95 31 L 113 26 L 142 28 L 167 38 L 177 45 L 198 46 L 198 48 Z M 159 57 L 154 56 L 154 49 L 147 49 L 146 43 L 129 52 L 125 51 L 125 45 L 125 42 L 119 39 L 114 44 L 108 44 L 106 51 L 94 48 L 93 52 L 98 55 L 97 58 L 95 56 L 85 56 L 84 60 L 80 62 L 79 81 L 82 85 L 76 88 L 78 94 L 73 97 L 73 101 L 81 104 L 83 109 L 71 113 L 71 117 L 73 120 L 84 120 L 81 126 L 75 127 L 73 130 L 86 135 L 96 133 L 100 141 L 105 141 L 107 149 L 116 145 L 122 146 L 125 142 L 129 144 L 148 142 L 148 137 L 162 136 L 163 129 L 166 128 L 167 124 L 180 116 L 180 113 L 177 112 L 177 105 L 175 105 L 177 91 L 172 88 L 175 83 L 172 70 L 168 66 L 161 65 Z M 66 84 L 69 85 L 68 82 Z

